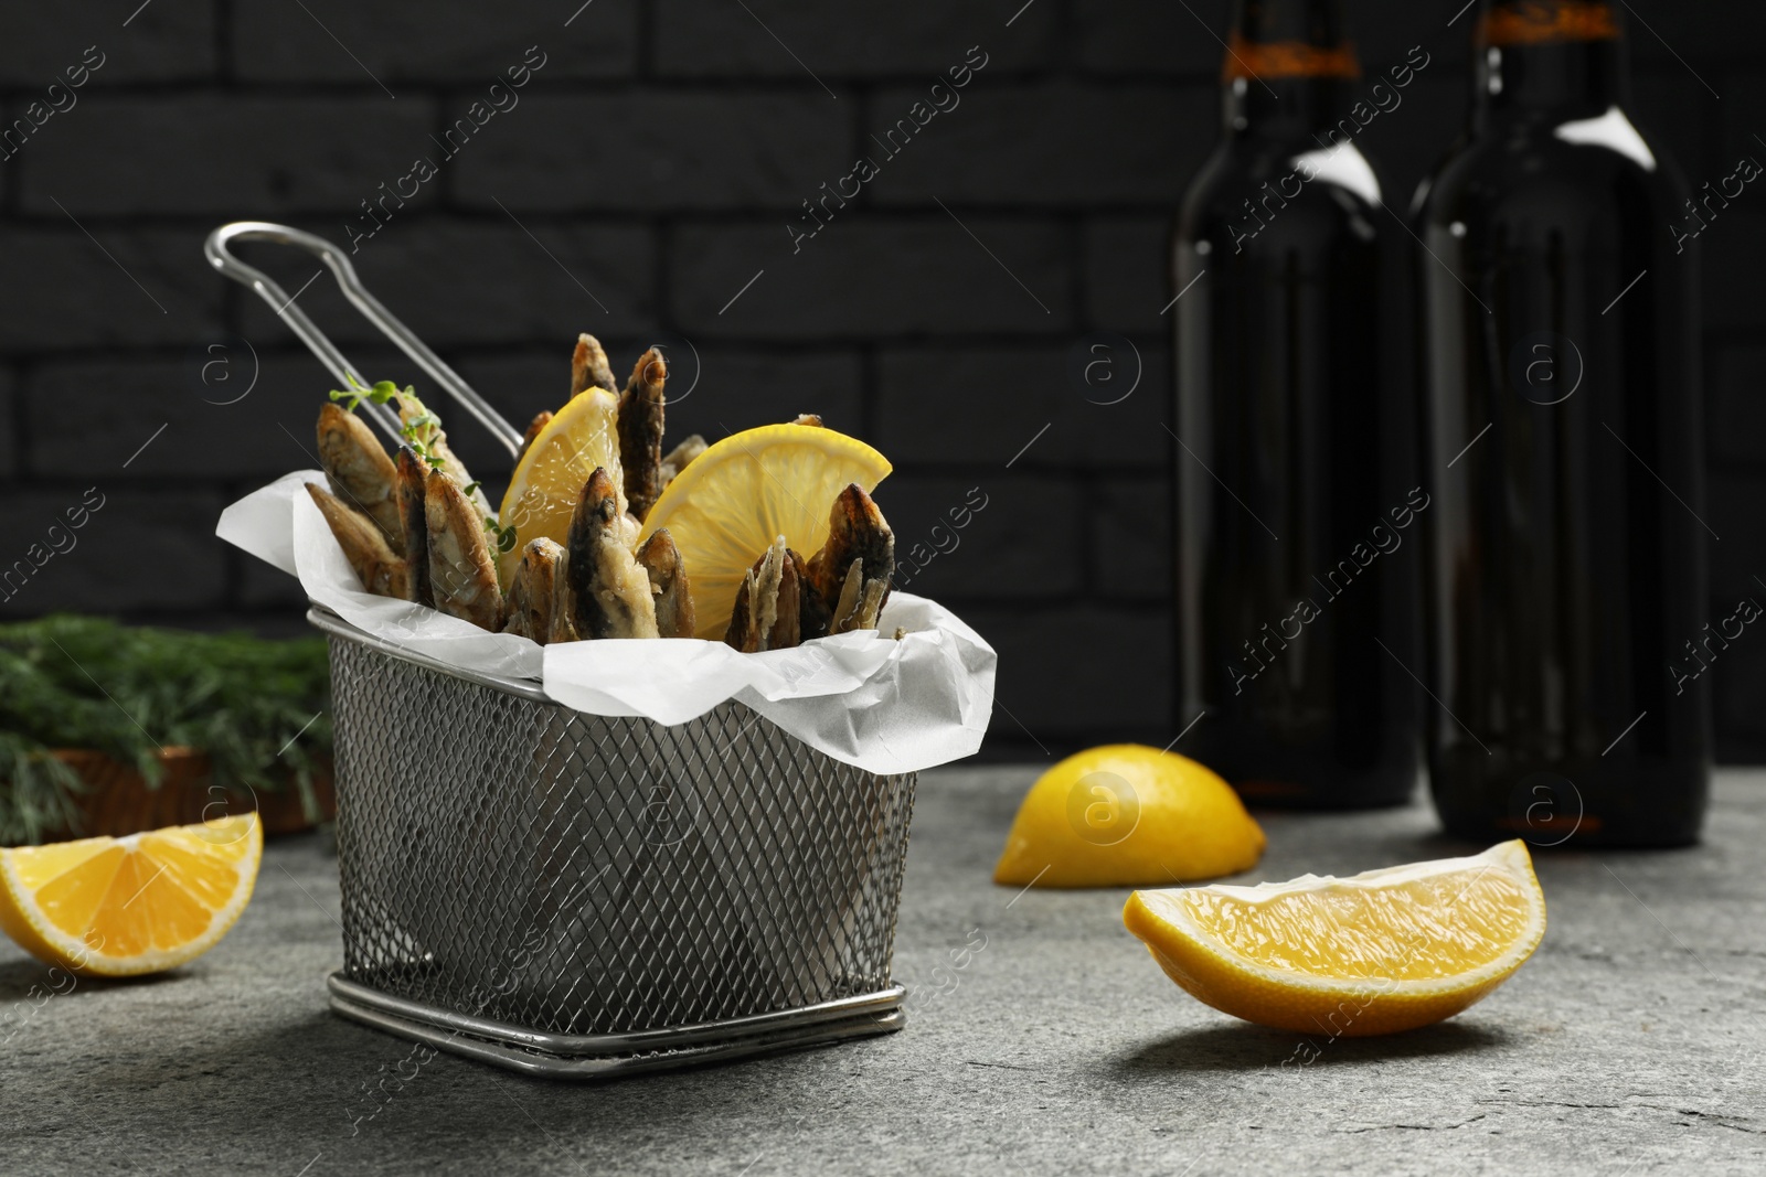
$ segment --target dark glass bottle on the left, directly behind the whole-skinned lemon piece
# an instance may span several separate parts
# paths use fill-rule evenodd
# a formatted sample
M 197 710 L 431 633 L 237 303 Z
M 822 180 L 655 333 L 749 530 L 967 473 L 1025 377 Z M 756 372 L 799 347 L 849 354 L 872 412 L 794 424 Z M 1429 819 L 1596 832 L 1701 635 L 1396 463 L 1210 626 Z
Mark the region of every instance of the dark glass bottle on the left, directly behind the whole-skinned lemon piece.
M 1353 141 L 1339 0 L 1238 0 L 1222 74 L 1173 244 L 1178 750 L 1252 803 L 1393 805 L 1418 743 L 1402 226 Z

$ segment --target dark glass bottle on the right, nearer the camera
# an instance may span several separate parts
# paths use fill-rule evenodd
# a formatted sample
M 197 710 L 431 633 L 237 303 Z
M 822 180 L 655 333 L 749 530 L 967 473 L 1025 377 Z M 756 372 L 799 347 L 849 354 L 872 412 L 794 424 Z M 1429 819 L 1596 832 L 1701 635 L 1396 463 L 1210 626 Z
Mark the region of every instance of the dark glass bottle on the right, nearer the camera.
M 1483 0 L 1475 39 L 1471 125 L 1416 210 L 1430 789 L 1466 838 L 1688 843 L 1711 649 L 1687 187 L 1625 115 L 1614 5 Z

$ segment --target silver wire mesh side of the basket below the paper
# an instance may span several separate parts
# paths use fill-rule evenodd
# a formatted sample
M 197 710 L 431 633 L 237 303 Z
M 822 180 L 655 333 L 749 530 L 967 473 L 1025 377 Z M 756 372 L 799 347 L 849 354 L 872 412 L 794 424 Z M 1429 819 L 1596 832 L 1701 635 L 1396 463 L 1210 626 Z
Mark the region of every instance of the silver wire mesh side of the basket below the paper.
M 740 704 L 662 727 L 330 653 L 353 981 L 560 1034 L 890 985 L 913 775 Z

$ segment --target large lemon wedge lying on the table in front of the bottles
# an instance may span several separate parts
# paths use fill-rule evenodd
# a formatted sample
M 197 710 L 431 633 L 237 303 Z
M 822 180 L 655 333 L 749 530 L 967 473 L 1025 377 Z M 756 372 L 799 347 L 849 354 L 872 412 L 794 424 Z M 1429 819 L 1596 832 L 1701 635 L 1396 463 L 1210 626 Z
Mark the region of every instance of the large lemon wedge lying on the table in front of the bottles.
M 1517 840 L 1349 879 L 1136 891 L 1121 919 L 1173 981 L 1222 1013 L 1362 1038 L 1487 997 L 1545 935 L 1545 895 Z

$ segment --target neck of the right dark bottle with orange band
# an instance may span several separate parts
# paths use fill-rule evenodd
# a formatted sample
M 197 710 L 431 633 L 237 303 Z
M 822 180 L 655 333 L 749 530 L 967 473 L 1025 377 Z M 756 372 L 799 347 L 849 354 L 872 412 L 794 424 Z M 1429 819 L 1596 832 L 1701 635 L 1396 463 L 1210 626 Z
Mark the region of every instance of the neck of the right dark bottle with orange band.
M 1630 97 L 1625 30 L 1598 0 L 1485 0 L 1473 34 L 1473 124 L 1579 118 Z

